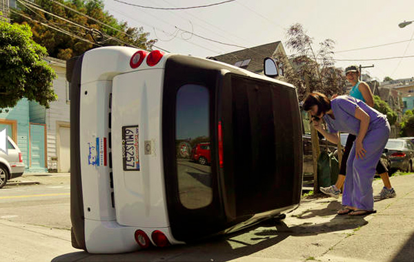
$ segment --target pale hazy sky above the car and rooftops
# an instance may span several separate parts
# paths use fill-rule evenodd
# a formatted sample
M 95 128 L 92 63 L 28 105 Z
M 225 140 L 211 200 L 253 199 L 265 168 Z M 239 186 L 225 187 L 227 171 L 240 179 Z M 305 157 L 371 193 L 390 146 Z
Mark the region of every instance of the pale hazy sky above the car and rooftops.
M 157 39 L 155 49 L 210 57 L 282 41 L 290 55 L 286 31 L 300 23 L 313 38 L 315 50 L 325 39 L 335 41 L 337 67 L 373 66 L 362 73 L 380 81 L 414 77 L 414 23 L 398 26 L 414 20 L 413 0 L 235 0 L 187 10 L 153 10 L 126 3 L 183 8 L 224 0 L 119 1 L 104 0 L 105 10 L 130 27 L 142 26 L 149 39 Z

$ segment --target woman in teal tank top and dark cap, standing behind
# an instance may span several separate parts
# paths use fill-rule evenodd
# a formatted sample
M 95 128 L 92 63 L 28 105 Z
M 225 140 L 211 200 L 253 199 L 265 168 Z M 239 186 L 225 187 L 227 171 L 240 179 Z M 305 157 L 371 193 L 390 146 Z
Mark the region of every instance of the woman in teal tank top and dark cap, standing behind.
M 355 97 L 356 99 L 364 101 L 367 105 L 373 108 L 373 93 L 371 92 L 371 89 L 365 82 L 359 81 L 359 75 L 360 72 L 357 66 L 348 66 L 348 68 L 346 68 L 346 80 L 348 80 L 348 82 L 353 85 L 351 91 L 349 92 L 349 95 L 351 97 Z M 342 188 L 342 185 L 344 185 L 345 181 L 346 161 L 348 160 L 348 155 L 351 151 L 355 139 L 356 137 L 353 134 L 348 134 L 348 138 L 346 139 L 346 145 L 344 148 L 344 155 L 342 156 L 341 168 L 339 170 L 338 179 L 335 185 L 331 185 L 326 188 L 319 188 L 324 194 L 328 194 L 329 196 L 333 196 L 335 198 L 339 197 L 339 193 L 341 192 L 339 189 Z M 381 161 L 378 161 L 376 171 L 377 174 L 380 174 L 382 182 L 384 183 L 384 188 L 382 188 L 380 194 L 374 196 L 374 199 L 381 200 L 395 197 L 395 190 L 391 186 L 391 181 L 388 177 L 388 170 Z

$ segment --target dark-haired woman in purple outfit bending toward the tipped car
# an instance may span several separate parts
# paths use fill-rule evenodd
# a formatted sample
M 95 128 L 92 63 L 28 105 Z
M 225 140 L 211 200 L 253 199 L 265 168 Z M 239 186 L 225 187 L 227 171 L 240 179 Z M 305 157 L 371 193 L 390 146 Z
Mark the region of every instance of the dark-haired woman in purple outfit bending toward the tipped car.
M 328 99 L 313 92 L 304 101 L 304 110 L 313 116 L 313 126 L 333 143 L 338 143 L 338 132 L 357 136 L 346 163 L 346 179 L 342 194 L 344 208 L 338 214 L 364 215 L 375 212 L 373 179 L 390 133 L 386 116 L 363 101 L 349 96 Z M 321 121 L 326 122 L 324 129 Z

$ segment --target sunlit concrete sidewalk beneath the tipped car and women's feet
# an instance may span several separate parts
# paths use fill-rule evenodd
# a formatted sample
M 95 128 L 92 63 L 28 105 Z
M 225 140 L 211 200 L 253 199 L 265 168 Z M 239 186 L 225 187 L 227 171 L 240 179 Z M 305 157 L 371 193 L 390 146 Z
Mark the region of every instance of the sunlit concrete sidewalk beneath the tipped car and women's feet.
M 21 254 L 31 261 L 414 261 L 414 174 L 391 177 L 391 183 L 397 197 L 377 201 L 376 214 L 339 216 L 340 199 L 304 199 L 281 223 L 269 222 L 201 243 L 127 254 L 75 250 L 68 230 L 48 232 L 26 225 L 12 228 L 25 230 L 30 250 L 38 250 L 30 256 Z M 374 192 L 379 192 L 382 181 L 374 181 L 373 186 Z M 3 237 L 12 233 L 2 220 L 0 227 Z M 52 241 L 53 247 L 45 248 L 43 240 Z M 25 248 L 18 250 L 26 252 Z

